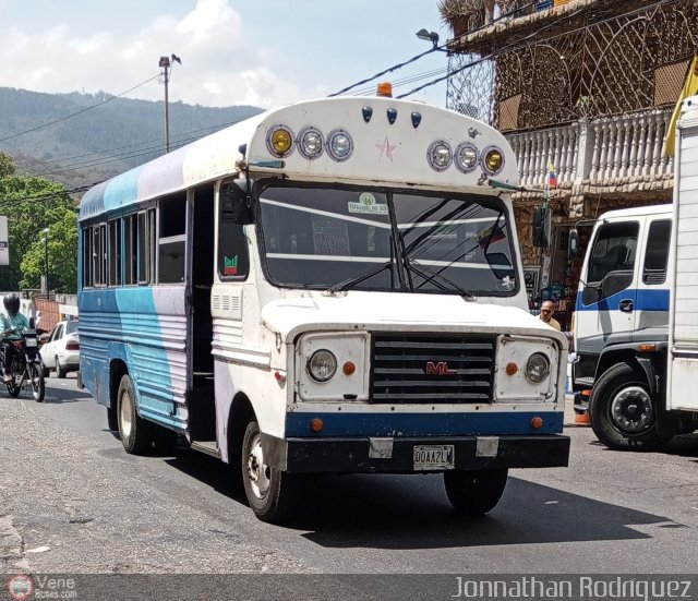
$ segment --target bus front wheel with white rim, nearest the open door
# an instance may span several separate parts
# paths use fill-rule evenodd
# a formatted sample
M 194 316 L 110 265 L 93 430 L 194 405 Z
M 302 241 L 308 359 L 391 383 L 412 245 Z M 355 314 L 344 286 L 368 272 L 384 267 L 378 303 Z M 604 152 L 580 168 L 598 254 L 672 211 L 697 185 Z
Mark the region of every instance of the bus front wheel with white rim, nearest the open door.
M 242 483 L 251 509 L 262 521 L 279 524 L 293 514 L 298 481 L 265 464 L 262 433 L 254 420 L 248 423 L 242 440 Z

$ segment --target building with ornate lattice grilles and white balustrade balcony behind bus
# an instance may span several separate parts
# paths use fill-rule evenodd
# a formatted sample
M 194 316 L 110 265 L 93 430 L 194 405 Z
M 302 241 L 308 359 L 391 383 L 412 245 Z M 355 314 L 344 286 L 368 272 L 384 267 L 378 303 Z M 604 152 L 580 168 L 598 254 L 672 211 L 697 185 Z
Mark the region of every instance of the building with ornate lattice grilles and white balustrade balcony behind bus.
M 664 140 L 698 51 L 698 5 L 442 0 L 440 9 L 453 32 L 447 106 L 507 135 L 525 188 L 515 211 L 531 308 L 551 298 L 569 328 L 581 268 L 567 261 L 569 229 L 579 226 L 583 251 L 604 211 L 671 202 Z M 532 213 L 544 203 L 552 231 L 542 250 Z

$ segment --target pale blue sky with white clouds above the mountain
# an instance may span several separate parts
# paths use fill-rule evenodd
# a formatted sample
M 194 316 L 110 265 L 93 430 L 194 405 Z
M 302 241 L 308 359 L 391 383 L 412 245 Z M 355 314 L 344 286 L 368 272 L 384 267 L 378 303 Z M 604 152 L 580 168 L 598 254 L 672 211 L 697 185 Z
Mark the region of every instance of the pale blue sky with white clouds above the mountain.
M 327 96 L 449 37 L 437 0 L 0 0 L 0 87 L 106 92 L 170 103 L 273 108 Z M 395 95 L 446 74 L 435 51 L 357 89 Z M 413 81 L 410 81 L 413 80 Z M 353 92 L 352 92 L 353 94 Z M 409 96 L 445 106 L 446 83 Z

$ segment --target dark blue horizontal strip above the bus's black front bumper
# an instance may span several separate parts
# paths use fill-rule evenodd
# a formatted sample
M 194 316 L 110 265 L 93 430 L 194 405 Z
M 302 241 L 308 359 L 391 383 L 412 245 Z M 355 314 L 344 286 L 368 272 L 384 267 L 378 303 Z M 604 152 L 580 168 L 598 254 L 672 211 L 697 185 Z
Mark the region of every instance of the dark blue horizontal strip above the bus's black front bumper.
M 543 418 L 534 430 L 531 419 Z M 320 418 L 324 428 L 318 434 L 310 429 Z M 562 411 L 508 411 L 467 413 L 347 413 L 291 412 L 286 416 L 286 436 L 505 436 L 521 434 L 558 434 L 563 431 Z

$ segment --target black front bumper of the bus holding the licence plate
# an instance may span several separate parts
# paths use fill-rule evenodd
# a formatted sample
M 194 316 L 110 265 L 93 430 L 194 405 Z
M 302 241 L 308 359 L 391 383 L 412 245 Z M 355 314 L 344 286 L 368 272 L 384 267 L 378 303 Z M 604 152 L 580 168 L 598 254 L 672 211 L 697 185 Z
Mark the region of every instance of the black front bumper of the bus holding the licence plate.
M 289 472 L 430 473 L 448 469 L 567 467 L 569 436 L 419 436 L 276 438 L 265 460 Z M 430 455 L 436 457 L 430 465 Z M 440 459 L 446 464 L 440 466 Z

